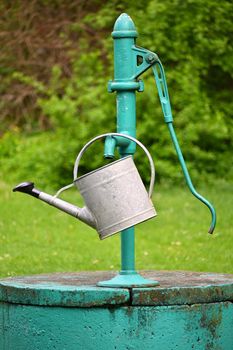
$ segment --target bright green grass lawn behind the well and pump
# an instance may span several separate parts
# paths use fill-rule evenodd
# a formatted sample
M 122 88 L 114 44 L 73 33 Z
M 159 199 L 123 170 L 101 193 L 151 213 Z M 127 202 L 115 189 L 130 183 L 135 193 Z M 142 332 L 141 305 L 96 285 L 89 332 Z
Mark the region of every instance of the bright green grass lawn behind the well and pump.
M 74 218 L 0 184 L 0 276 L 55 271 L 118 270 L 120 236 L 100 241 Z M 157 186 L 158 216 L 136 229 L 138 270 L 233 273 L 233 186 L 199 188 L 217 210 L 217 229 L 207 233 L 209 210 L 184 188 Z M 74 204 L 77 192 L 63 197 Z

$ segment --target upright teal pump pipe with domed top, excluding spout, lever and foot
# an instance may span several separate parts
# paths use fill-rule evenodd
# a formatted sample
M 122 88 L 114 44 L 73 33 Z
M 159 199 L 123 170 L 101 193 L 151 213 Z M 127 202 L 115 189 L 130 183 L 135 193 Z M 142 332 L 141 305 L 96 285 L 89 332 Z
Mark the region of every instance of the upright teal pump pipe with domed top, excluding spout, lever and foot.
M 122 14 L 116 21 L 112 37 L 114 39 L 114 82 L 109 90 L 116 91 L 117 132 L 136 137 L 136 96 L 137 83 L 130 79 L 134 75 L 135 62 L 132 46 L 137 32 L 132 19 Z M 115 86 L 114 86 L 115 85 Z M 119 147 L 121 157 L 133 155 L 136 145 L 127 142 Z M 135 272 L 134 227 L 121 232 L 121 274 Z

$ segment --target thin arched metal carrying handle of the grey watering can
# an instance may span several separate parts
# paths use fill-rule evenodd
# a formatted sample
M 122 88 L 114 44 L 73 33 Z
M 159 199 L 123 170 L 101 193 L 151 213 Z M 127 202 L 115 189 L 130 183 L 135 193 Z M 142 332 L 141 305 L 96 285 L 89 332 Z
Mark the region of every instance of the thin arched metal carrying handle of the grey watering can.
M 148 159 L 149 159 L 149 162 L 150 162 L 150 168 L 151 168 L 151 179 L 150 179 L 150 186 L 149 186 L 149 191 L 148 191 L 148 195 L 149 195 L 149 198 L 151 198 L 152 196 L 152 193 L 153 193 L 153 188 L 154 188 L 154 183 L 155 183 L 155 167 L 154 167 L 154 162 L 153 162 L 153 159 L 148 151 L 148 149 L 140 142 L 138 141 L 137 139 L 135 139 L 134 137 L 132 136 L 129 136 L 129 135 L 125 135 L 125 134 L 120 134 L 120 133 L 116 133 L 116 132 L 112 132 L 112 133 L 107 133 L 107 134 L 102 134 L 102 135 L 98 135 L 96 137 L 94 137 L 93 139 L 91 139 L 90 141 L 88 141 L 88 143 L 86 143 L 85 146 L 83 146 L 83 148 L 81 149 L 81 151 L 79 152 L 76 160 L 75 160 L 75 164 L 74 164 L 74 170 L 73 170 L 73 176 L 74 176 L 74 181 L 77 179 L 78 177 L 78 167 L 79 167 L 79 162 L 84 154 L 84 152 L 86 151 L 86 149 L 91 146 L 95 141 L 99 140 L 99 139 L 102 139 L 102 138 L 105 138 L 105 137 L 108 137 L 108 136 L 111 136 L 111 137 L 114 137 L 114 136 L 119 136 L 119 137 L 124 137 L 124 138 L 127 138 L 133 142 L 135 142 L 138 146 L 140 146 L 143 151 L 146 153 Z

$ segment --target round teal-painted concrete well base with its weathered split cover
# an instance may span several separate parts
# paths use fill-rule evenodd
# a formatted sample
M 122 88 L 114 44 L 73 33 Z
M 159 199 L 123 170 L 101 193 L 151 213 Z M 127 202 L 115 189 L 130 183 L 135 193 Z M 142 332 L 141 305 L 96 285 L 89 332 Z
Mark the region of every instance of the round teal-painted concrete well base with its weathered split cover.
M 0 349 L 233 349 L 233 275 L 142 275 L 160 286 L 96 287 L 110 272 L 1 280 Z

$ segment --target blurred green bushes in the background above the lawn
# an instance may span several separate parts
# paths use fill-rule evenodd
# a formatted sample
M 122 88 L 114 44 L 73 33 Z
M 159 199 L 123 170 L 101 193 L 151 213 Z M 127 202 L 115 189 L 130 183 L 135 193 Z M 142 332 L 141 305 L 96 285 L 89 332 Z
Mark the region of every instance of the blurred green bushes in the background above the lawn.
M 14 59 L 11 47 L 4 51 L 2 45 L 0 171 L 5 180 L 33 179 L 38 186 L 55 188 L 69 183 L 75 156 L 83 144 L 97 134 L 115 131 L 115 96 L 107 93 L 107 82 L 113 77 L 110 33 L 122 12 L 135 22 L 137 45 L 156 52 L 163 62 L 178 139 L 194 181 L 233 179 L 232 1 L 33 3 L 31 12 L 41 19 L 45 14 L 44 23 L 56 16 L 59 21 L 61 14 L 69 19 L 53 34 L 65 52 L 66 63 L 54 60 L 45 71 L 42 68 L 49 55 L 43 56 L 43 61 L 38 54 L 35 59 L 42 71 L 29 69 L 27 64 L 20 66 L 16 56 Z M 17 29 L 15 18 L 22 11 L 21 2 L 2 2 L 0 6 L 9 14 L 3 19 L 5 28 L 9 32 Z M 77 18 L 72 17 L 74 8 Z M 34 28 L 30 23 L 22 29 L 25 35 Z M 25 62 L 33 54 L 29 49 L 23 51 Z M 163 122 L 152 72 L 143 80 L 145 91 L 137 94 L 137 136 L 154 157 L 157 178 L 180 183 L 182 174 Z M 15 100 L 6 98 L 15 86 L 19 87 L 16 97 L 30 90 L 20 113 L 12 109 Z M 14 118 L 15 113 L 19 113 L 18 118 Z M 101 152 L 100 144 L 87 154 L 81 172 L 103 164 Z M 137 161 L 148 180 L 147 160 L 139 154 Z

